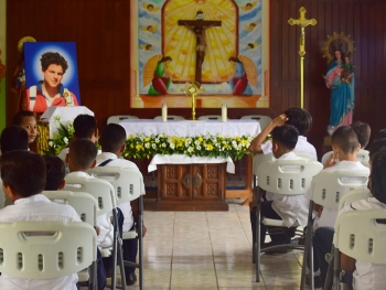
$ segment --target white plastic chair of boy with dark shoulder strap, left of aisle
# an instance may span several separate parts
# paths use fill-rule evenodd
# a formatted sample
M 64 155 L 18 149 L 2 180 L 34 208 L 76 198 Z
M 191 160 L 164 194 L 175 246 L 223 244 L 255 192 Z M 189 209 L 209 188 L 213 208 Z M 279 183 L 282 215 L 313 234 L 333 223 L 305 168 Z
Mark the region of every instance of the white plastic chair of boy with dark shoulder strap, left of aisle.
M 143 176 L 139 170 L 121 167 L 95 167 L 88 170 L 89 174 L 98 179 L 110 182 L 116 191 L 117 204 L 125 213 L 125 204 L 130 203 L 139 198 L 139 216 L 138 216 L 138 256 L 139 262 L 132 264 L 130 261 L 124 261 L 125 266 L 139 268 L 139 287 L 143 289 L 143 239 L 142 239 L 142 225 L 143 225 Z M 135 230 L 124 232 L 124 239 L 137 238 Z

